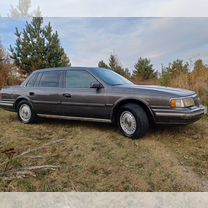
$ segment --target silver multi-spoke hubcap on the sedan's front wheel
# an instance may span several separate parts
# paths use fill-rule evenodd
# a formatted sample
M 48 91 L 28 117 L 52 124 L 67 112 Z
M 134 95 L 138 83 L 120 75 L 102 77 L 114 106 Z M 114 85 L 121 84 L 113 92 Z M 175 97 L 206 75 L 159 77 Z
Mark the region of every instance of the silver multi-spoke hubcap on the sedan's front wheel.
M 126 134 L 134 134 L 137 128 L 136 119 L 134 115 L 129 111 L 122 112 L 120 116 L 120 126 Z

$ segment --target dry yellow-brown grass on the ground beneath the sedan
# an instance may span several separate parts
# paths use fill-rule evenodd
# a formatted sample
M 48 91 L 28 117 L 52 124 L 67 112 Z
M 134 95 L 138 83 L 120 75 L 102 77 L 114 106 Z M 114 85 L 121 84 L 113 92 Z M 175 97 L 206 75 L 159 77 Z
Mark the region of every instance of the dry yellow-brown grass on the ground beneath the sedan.
M 208 191 L 208 118 L 184 127 L 151 129 L 129 140 L 107 124 L 42 120 L 23 125 L 0 111 L 0 191 Z M 45 146 L 62 140 L 64 142 Z M 43 165 L 19 177 L 25 167 Z M 5 177 L 15 176 L 7 180 Z

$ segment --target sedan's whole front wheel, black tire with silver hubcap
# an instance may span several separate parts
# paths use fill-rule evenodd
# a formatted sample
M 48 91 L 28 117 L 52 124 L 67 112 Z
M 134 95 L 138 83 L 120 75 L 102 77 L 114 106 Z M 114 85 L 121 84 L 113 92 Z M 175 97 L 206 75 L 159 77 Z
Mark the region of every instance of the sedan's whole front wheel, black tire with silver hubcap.
M 124 136 L 139 139 L 144 137 L 149 130 L 149 119 L 142 107 L 129 103 L 120 107 L 117 125 Z

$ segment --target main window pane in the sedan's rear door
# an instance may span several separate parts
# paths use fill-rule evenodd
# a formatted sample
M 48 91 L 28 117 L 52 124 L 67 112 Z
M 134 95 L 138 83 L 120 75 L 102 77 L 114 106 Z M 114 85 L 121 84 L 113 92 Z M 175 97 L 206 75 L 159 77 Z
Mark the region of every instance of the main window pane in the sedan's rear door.
M 39 87 L 59 87 L 61 79 L 61 71 L 43 72 L 39 82 Z

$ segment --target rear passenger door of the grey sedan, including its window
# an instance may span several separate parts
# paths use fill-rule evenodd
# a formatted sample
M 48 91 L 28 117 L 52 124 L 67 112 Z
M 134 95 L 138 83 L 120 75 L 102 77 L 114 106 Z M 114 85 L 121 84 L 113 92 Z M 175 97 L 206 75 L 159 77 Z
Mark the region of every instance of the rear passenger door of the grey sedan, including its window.
M 39 72 L 34 83 L 28 82 L 28 94 L 36 113 L 61 115 L 62 83 L 61 70 Z

